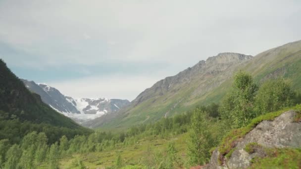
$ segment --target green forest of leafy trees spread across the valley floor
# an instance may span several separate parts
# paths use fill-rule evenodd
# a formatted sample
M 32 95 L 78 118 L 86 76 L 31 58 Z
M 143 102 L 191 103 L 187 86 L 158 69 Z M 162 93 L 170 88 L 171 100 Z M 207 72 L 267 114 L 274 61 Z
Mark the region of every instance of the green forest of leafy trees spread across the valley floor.
M 161 153 L 151 151 L 147 160 L 125 162 L 118 154 L 106 169 L 174 169 L 208 163 L 212 150 L 231 130 L 246 127 L 252 119 L 301 103 L 301 95 L 281 78 L 256 84 L 250 74 L 238 72 L 232 90 L 219 104 L 199 106 L 152 124 L 141 124 L 121 131 L 53 127 L 50 124 L 22 121 L 0 115 L 0 168 L 60 168 L 62 159 L 76 154 L 118 150 L 140 140 L 169 139 L 183 133 L 186 155 L 177 157 L 177 146 L 169 142 Z M 152 152 L 153 153 L 153 152 Z M 301 153 L 301 152 L 299 152 Z M 164 157 L 164 158 L 162 158 Z M 75 159 L 69 168 L 85 169 L 83 159 Z

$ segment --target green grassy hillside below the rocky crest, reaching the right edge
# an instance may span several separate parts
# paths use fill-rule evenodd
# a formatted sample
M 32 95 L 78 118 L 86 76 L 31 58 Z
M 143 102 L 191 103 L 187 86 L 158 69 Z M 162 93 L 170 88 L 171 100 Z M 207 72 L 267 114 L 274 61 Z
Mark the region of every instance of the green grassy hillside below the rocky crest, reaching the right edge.
M 160 85 L 154 84 L 152 88 L 146 90 L 151 93 L 151 96 L 148 96 L 150 98 L 138 104 L 132 103 L 132 106 L 119 112 L 114 117 L 108 117 L 105 120 L 97 119 L 102 122 L 96 127 L 124 128 L 134 124 L 151 123 L 162 117 L 181 114 L 196 106 L 207 105 L 212 102 L 219 103 L 231 89 L 232 72 L 238 70 L 251 73 L 257 84 L 266 79 L 284 78 L 291 82 L 294 89 L 301 91 L 301 41 L 267 50 L 247 62 L 231 66 L 231 68 L 225 69 L 225 71 L 228 71 L 227 74 L 211 75 L 210 73 L 216 71 L 216 68 L 214 70 L 206 68 L 203 70 L 204 75 L 202 73 L 193 74 L 194 77 L 186 78 L 187 83 L 176 84 L 172 91 L 167 92 L 161 87 L 168 82 L 168 78 L 166 78 L 167 82 L 162 80 L 162 82 L 157 83 L 161 83 Z M 189 76 L 190 74 L 185 73 L 185 71 L 183 71 L 183 74 Z M 223 81 L 217 79 L 223 79 Z M 157 93 L 158 90 L 161 90 L 161 92 Z M 142 97 L 138 96 L 137 98 Z M 91 123 L 97 124 L 97 120 Z

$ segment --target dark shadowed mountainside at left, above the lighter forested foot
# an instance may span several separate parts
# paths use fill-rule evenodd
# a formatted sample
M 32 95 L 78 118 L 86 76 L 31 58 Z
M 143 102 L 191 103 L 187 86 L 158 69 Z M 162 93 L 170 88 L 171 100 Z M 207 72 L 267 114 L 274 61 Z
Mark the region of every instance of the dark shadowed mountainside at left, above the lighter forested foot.
M 58 127 L 80 127 L 31 93 L 0 59 L 0 119 L 19 119 Z

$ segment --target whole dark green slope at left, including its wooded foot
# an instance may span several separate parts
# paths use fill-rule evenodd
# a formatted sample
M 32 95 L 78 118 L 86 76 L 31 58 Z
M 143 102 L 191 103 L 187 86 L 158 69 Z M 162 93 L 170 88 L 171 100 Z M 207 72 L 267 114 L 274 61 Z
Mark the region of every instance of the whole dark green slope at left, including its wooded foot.
M 0 139 L 18 142 L 31 131 L 45 132 L 55 142 L 61 135 L 91 133 L 44 104 L 0 59 Z

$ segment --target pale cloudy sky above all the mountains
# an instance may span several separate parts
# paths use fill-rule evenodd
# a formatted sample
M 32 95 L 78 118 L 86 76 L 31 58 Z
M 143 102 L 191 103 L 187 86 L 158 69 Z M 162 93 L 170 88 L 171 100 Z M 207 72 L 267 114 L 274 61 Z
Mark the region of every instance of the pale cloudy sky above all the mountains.
M 220 52 L 301 40 L 301 0 L 0 0 L 0 58 L 74 98 L 133 100 Z

